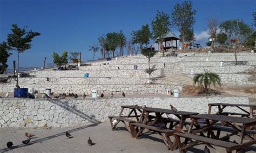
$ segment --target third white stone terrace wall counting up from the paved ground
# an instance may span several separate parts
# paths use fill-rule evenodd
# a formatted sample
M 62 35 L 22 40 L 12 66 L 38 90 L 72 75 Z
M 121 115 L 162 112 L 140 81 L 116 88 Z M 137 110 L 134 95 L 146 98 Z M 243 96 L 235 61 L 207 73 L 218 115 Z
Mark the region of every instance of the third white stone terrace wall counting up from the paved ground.
M 48 77 L 48 78 L 67 78 L 67 77 L 80 77 L 83 78 L 85 73 L 89 73 L 89 77 L 92 78 L 148 78 L 149 74 L 145 73 L 144 70 L 135 69 L 101 69 L 101 70 L 73 70 L 73 71 L 36 71 L 31 72 L 30 75 L 35 77 Z M 163 69 L 157 69 L 151 74 L 152 78 L 163 77 Z

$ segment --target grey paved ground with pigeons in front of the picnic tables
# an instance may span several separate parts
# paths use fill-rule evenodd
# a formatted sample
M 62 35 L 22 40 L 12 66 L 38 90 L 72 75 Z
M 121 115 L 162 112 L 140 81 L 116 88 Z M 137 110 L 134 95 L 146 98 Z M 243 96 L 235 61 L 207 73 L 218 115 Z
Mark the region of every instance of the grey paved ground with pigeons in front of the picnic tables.
M 168 151 L 158 134 L 145 134 L 136 140 L 122 128 L 112 131 L 109 122 L 100 124 L 86 124 L 84 126 L 54 128 L 54 129 L 1 129 L 0 152 L 178 152 Z M 66 138 L 65 131 L 70 131 L 73 138 Z M 30 145 L 23 145 L 25 132 L 36 134 Z M 91 137 L 95 145 L 90 147 L 87 140 Z M 14 149 L 6 148 L 6 142 L 12 141 Z M 190 148 L 188 152 L 204 152 L 204 145 Z M 225 152 L 223 148 L 215 147 L 211 152 Z M 255 152 L 254 147 L 246 148 L 242 152 Z

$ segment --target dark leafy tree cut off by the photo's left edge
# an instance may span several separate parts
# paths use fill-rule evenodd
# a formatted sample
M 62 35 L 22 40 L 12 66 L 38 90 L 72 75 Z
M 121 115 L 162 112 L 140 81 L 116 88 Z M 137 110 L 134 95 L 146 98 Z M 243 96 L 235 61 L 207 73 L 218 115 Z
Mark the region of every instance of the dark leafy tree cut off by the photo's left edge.
M 0 43 L 0 74 L 3 74 L 4 72 L 6 73 L 6 69 L 8 68 L 6 62 L 11 55 L 9 50 L 10 47 L 5 41 L 3 41 L 3 43 Z

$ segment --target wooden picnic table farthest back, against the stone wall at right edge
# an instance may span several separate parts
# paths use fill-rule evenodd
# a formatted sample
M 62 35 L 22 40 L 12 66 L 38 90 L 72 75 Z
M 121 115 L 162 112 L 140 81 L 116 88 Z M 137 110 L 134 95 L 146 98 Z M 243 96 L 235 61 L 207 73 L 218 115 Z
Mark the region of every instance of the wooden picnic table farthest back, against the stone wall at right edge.
M 250 105 L 250 104 L 232 104 L 232 103 L 209 103 L 208 104 L 208 114 L 211 114 L 211 110 L 212 110 L 212 106 L 218 106 L 218 112 L 215 114 L 220 114 L 220 115 L 241 115 L 241 117 L 250 117 L 250 118 L 254 118 L 254 110 L 256 109 L 256 105 Z M 241 113 L 235 113 L 235 112 L 223 112 L 223 110 L 226 107 L 237 107 L 240 110 L 242 110 L 242 112 L 244 112 L 245 114 L 241 114 Z M 250 107 L 250 112 L 248 112 L 245 109 L 242 109 L 241 107 Z

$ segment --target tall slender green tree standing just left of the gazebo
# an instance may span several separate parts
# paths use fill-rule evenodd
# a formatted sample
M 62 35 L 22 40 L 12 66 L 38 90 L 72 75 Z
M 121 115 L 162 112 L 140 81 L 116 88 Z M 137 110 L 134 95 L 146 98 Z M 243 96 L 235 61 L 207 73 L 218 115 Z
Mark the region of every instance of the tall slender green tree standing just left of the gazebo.
M 163 50 L 163 41 L 164 37 L 170 31 L 171 23 L 169 22 L 169 15 L 165 14 L 164 12 L 157 11 L 156 17 L 151 21 L 152 31 L 153 31 L 153 38 L 158 41 L 160 45 L 160 52 L 163 51 L 164 57 L 164 50 Z

